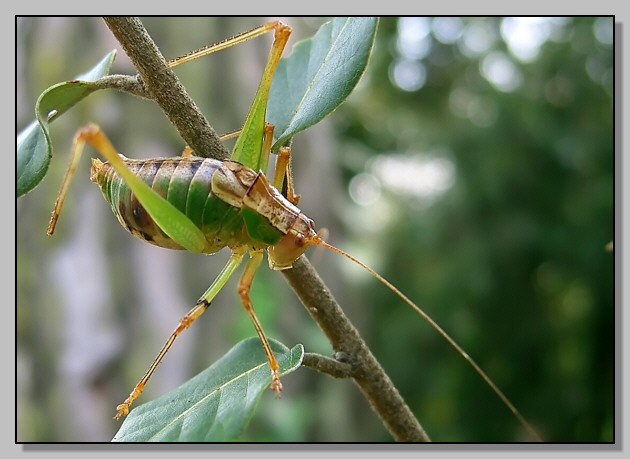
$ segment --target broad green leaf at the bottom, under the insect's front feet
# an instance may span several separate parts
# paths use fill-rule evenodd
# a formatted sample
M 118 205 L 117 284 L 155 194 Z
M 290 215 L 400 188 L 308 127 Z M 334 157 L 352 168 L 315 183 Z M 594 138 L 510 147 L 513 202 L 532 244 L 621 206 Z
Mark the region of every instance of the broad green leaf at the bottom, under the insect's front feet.
M 302 363 L 301 344 L 293 349 L 275 340 L 270 344 L 282 375 Z M 246 339 L 179 388 L 132 410 L 112 441 L 234 441 L 270 383 L 260 340 Z

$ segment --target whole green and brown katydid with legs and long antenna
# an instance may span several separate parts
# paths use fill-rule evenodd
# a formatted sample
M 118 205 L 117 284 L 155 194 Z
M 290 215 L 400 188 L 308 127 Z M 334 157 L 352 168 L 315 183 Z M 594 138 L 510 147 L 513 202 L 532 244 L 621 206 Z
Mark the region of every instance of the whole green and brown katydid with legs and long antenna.
M 320 246 L 361 266 L 426 320 L 492 388 L 519 421 L 537 437 L 519 411 L 466 352 L 422 309 L 374 270 L 323 240 L 315 225 L 298 207 L 293 188 L 291 150 L 281 147 L 270 181 L 264 172 L 273 142 L 273 126 L 265 121 L 271 81 L 291 29 L 273 22 L 169 63 L 176 66 L 268 32 L 274 41 L 258 91 L 238 135 L 230 160 L 197 156 L 186 149 L 181 156 L 149 160 L 127 159 L 116 151 L 95 125 L 81 129 L 74 142 L 70 167 L 51 217 L 52 234 L 85 143 L 107 162 L 92 160 L 91 180 L 99 185 L 119 222 L 131 234 L 159 247 L 212 254 L 228 247 L 231 256 L 195 306 L 180 320 L 144 376 L 127 399 L 117 406 L 115 418 L 125 417 L 151 375 L 179 334 L 197 320 L 249 255 L 238 284 L 238 294 L 261 340 L 271 371 L 270 388 L 282 391 L 279 367 L 254 311 L 249 292 L 254 275 L 268 254 L 273 270 L 289 269 L 308 247 Z M 286 183 L 285 183 L 286 182 Z M 282 194 L 279 190 L 286 190 Z

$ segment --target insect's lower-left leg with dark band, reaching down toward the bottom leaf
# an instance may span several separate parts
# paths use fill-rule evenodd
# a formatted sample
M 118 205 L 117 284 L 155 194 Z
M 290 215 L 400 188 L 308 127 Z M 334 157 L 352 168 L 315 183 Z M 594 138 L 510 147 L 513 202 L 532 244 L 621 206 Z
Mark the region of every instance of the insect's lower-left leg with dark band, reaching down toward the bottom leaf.
M 232 276 L 236 268 L 238 268 L 241 264 L 244 255 L 244 248 L 232 250 L 232 255 L 230 256 L 230 259 L 228 260 L 226 265 L 223 267 L 221 273 L 219 273 L 212 285 L 210 285 L 210 287 L 208 287 L 208 290 L 206 290 L 206 292 L 199 298 L 197 304 L 195 304 L 195 306 L 190 311 L 188 311 L 188 313 L 179 321 L 179 325 L 177 325 L 175 331 L 166 341 L 166 343 L 162 347 L 162 350 L 153 360 L 153 363 L 146 371 L 142 379 L 140 379 L 140 381 L 138 381 L 138 383 L 135 385 L 135 387 L 129 394 L 129 397 L 127 397 L 127 399 L 123 403 L 116 407 L 116 416 L 114 417 L 114 419 L 120 420 L 127 416 L 131 404 L 135 399 L 140 396 L 140 394 L 144 390 L 144 386 L 146 386 L 147 382 L 149 381 L 149 378 L 151 378 L 151 376 L 155 372 L 155 369 L 160 364 L 170 347 L 173 345 L 175 338 L 177 338 L 184 330 L 190 327 L 192 323 L 197 320 L 206 311 L 206 309 L 208 309 L 208 307 L 210 306 L 210 302 L 225 286 L 230 276 Z

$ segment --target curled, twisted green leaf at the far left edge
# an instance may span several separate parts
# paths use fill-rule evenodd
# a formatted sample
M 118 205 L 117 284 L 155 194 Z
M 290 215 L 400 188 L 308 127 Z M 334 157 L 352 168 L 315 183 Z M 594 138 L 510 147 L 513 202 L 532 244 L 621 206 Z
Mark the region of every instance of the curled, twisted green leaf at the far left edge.
M 116 51 L 107 54 L 94 68 L 72 81 L 45 90 L 37 100 L 37 121 L 29 124 L 17 137 L 17 196 L 22 196 L 43 180 L 52 157 L 48 124 L 94 91 L 93 82 L 109 73 Z

